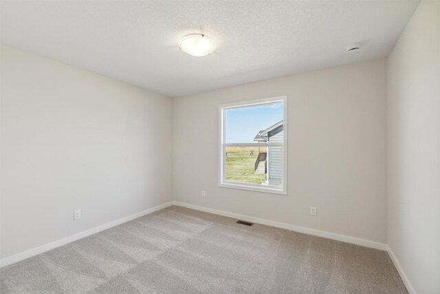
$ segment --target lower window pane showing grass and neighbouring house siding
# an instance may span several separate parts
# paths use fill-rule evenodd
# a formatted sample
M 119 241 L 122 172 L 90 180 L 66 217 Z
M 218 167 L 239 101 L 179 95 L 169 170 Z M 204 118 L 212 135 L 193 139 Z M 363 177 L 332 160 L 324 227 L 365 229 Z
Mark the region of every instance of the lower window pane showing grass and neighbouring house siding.
M 273 160 L 278 168 L 269 165 L 267 151 L 283 147 L 225 147 L 225 174 L 228 182 L 281 186 L 282 161 Z M 275 156 L 275 152 L 274 156 Z M 280 154 L 282 155 L 282 153 Z M 276 158 L 276 157 L 274 157 Z M 274 178 L 269 171 L 275 171 Z

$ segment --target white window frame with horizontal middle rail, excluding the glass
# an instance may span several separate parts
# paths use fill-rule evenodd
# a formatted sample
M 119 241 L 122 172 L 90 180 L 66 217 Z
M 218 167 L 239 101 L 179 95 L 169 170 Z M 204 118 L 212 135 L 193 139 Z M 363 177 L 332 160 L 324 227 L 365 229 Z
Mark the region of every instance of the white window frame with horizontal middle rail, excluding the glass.
M 245 108 L 260 105 L 271 105 L 283 102 L 284 118 L 283 118 L 283 143 L 225 143 L 225 120 L 224 111 L 227 109 Z M 219 187 L 242 189 L 248 191 L 265 192 L 287 195 L 287 96 L 276 96 L 271 98 L 264 98 L 252 101 L 241 101 L 236 103 L 228 103 L 219 105 Z M 225 148 L 235 147 L 270 147 L 270 146 L 282 146 L 283 147 L 283 184 L 280 186 L 275 185 L 259 185 L 243 182 L 230 182 L 226 180 L 225 169 Z

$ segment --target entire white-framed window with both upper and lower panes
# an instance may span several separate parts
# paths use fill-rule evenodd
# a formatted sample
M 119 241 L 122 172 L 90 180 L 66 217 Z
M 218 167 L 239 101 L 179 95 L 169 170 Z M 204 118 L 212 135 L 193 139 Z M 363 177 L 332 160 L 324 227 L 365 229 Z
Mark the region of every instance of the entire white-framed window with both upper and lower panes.
M 219 186 L 287 191 L 287 96 L 220 105 Z

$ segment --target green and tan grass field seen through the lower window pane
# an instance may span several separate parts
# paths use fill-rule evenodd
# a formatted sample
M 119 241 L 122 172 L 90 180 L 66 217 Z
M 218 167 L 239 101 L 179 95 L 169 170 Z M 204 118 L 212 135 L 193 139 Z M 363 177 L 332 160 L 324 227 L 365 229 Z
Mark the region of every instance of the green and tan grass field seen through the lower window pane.
M 266 152 L 266 147 L 260 147 L 260 151 Z M 255 174 L 254 171 L 259 147 L 226 147 L 226 154 L 226 180 L 253 184 L 267 180 L 266 174 Z

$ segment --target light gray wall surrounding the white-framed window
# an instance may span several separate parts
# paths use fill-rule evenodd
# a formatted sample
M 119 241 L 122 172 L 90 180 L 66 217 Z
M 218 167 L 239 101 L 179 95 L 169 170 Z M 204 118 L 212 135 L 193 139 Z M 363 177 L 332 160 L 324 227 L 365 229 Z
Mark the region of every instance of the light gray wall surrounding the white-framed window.
M 218 187 L 219 105 L 285 94 L 287 196 Z M 384 59 L 175 98 L 173 105 L 175 200 L 386 243 Z

